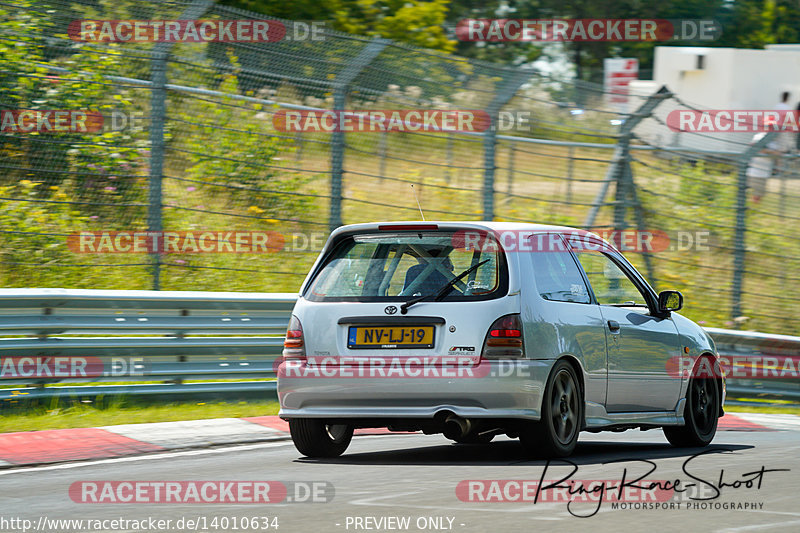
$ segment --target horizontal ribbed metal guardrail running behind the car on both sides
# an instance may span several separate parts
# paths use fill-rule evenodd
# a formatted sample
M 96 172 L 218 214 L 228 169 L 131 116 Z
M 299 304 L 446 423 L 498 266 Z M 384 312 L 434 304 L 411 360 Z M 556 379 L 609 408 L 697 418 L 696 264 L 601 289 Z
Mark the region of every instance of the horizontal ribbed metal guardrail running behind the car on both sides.
M 274 396 L 273 363 L 295 299 L 292 293 L 0 289 L 0 386 L 22 385 L 0 389 L 0 400 Z M 769 364 L 772 357 L 778 366 L 788 360 L 795 368 L 800 362 L 800 337 L 706 331 L 720 355 L 731 359 L 758 356 L 759 364 Z M 84 373 L 89 376 L 26 376 L 14 366 L 22 359 L 27 359 L 27 369 L 31 360 L 52 366 L 64 357 L 86 358 L 89 372 Z M 81 381 L 93 385 L 63 385 Z M 144 383 L 130 384 L 137 381 Z M 734 397 L 800 399 L 800 380 L 729 375 L 728 392 Z

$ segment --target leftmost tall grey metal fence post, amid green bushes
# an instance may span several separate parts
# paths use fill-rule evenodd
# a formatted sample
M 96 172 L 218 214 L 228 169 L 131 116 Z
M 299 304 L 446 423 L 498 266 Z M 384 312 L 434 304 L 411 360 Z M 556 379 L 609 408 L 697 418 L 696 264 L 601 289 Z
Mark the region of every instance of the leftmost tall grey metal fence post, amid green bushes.
M 214 0 L 195 0 L 180 20 L 195 20 L 202 16 L 214 4 Z M 150 63 L 150 182 L 148 186 L 147 228 L 156 234 L 154 242 L 160 243 L 159 235 L 162 225 L 162 177 L 164 173 L 164 122 L 167 114 L 167 59 L 173 43 L 156 43 Z M 161 288 L 161 255 L 159 251 L 151 253 L 153 263 L 153 290 Z

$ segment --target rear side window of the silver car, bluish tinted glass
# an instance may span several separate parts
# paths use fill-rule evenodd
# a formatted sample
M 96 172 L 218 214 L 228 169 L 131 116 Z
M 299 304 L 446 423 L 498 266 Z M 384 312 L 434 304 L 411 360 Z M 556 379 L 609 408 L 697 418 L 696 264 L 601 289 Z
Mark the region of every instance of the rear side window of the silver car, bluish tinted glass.
M 567 251 L 534 251 L 530 256 L 536 288 L 542 298 L 557 302 L 591 302 L 572 254 Z

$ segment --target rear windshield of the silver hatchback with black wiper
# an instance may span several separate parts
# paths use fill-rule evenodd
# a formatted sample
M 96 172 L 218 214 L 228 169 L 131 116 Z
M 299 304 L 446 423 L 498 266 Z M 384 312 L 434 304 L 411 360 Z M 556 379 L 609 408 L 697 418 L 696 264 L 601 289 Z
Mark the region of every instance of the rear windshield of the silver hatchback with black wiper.
M 304 297 L 312 301 L 403 301 L 454 288 L 442 301 L 505 294 L 508 274 L 499 247 L 466 249 L 452 232 L 368 233 L 347 237 L 325 258 Z M 485 248 L 490 248 L 486 251 Z

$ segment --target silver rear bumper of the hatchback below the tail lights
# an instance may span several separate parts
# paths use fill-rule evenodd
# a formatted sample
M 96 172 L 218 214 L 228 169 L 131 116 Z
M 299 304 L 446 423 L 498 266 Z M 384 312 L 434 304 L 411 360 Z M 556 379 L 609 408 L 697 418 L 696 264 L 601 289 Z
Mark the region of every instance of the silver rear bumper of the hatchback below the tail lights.
M 414 374 L 427 377 L 376 376 L 363 371 L 316 377 L 305 363 L 294 363 L 291 372 L 282 365 L 278 371 L 279 416 L 431 419 L 449 411 L 464 418 L 538 420 L 553 363 L 482 361 L 470 371 L 435 367 L 427 369 L 427 374 Z

